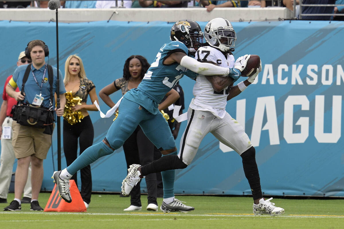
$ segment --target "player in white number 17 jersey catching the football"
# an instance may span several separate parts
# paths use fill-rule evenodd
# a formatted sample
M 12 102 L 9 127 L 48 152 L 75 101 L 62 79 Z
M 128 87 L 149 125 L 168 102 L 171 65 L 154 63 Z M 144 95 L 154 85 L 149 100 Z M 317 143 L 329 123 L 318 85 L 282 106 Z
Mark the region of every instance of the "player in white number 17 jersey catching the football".
M 235 61 L 232 51 L 234 51 L 236 33 L 228 20 L 215 18 L 209 21 L 205 26 L 204 36 L 207 46 L 198 48 L 195 54 L 197 61 L 233 69 L 245 68 L 241 63 L 246 64 L 250 55 Z M 263 198 L 255 148 L 244 128 L 226 112 L 227 101 L 243 92 L 260 71 L 261 64 L 254 75 L 235 86 L 233 84 L 240 75 L 235 77 L 198 75 L 193 88 L 195 98 L 192 99 L 187 111 L 187 126 L 180 142 L 178 155 L 162 157 L 137 170 L 142 175 L 146 175 L 169 169 L 184 169 L 192 162 L 205 135 L 212 133 L 242 157 L 244 172 L 254 199 L 253 213 L 271 216 L 283 214 L 283 208 L 275 207 L 275 204 L 270 202 L 272 198 L 268 200 Z M 160 208 L 162 211 L 164 211 L 163 205 L 164 203 Z

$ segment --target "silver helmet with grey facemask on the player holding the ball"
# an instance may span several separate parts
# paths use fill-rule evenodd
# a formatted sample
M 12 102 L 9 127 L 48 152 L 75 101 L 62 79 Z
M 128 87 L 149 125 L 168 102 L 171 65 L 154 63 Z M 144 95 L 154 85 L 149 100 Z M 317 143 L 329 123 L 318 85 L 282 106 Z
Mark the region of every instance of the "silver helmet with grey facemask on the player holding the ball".
M 228 51 L 235 46 L 236 34 L 233 25 L 224 18 L 210 20 L 204 28 L 204 37 L 210 46 Z

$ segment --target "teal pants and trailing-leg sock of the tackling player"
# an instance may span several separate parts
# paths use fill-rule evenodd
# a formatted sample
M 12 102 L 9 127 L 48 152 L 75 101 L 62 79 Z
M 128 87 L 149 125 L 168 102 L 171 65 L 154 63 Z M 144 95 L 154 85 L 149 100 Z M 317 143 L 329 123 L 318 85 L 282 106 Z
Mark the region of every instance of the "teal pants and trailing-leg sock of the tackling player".
M 161 113 L 153 115 L 139 104 L 123 98 L 119 105 L 118 117 L 111 124 L 106 134 L 106 139 L 111 148 L 120 148 L 138 125 L 141 126 L 143 133 L 158 149 L 168 150 L 175 147 L 170 127 Z M 67 171 L 73 175 L 78 170 L 95 162 L 98 158 L 113 152 L 104 142 L 99 142 L 88 147 L 67 167 Z

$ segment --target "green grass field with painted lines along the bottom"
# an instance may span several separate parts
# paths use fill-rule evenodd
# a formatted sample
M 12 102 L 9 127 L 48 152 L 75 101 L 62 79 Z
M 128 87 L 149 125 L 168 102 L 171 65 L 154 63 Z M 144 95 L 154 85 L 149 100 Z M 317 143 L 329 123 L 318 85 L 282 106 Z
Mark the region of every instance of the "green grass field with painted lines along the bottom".
M 40 194 L 44 208 L 50 193 Z M 14 194 L 10 193 L 8 201 Z M 163 214 L 147 211 L 147 196 L 141 196 L 141 211 L 123 211 L 130 198 L 93 194 L 87 213 L 35 212 L 22 204 L 17 212 L 0 211 L 0 228 L 344 228 L 344 199 L 272 199 L 286 210 L 281 216 L 254 216 L 251 197 L 177 196 L 195 210 Z M 162 198 L 158 198 L 158 205 Z M 0 204 L 2 210 L 8 204 Z M 160 206 L 159 206 L 160 207 Z

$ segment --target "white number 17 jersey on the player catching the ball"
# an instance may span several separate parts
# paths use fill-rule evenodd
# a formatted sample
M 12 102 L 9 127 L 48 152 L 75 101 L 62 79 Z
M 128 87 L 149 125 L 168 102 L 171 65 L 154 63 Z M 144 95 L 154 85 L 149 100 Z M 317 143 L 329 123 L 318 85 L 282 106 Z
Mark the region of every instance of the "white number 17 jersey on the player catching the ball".
M 220 67 L 233 68 L 235 59 L 233 55 L 223 55 L 221 51 L 211 46 L 201 47 L 197 50 L 197 61 L 214 62 Z M 228 86 L 229 87 L 229 86 Z M 204 75 L 198 75 L 193 88 L 195 98 L 191 100 L 190 108 L 199 111 L 210 111 L 218 118 L 226 114 L 228 88 L 221 92 L 214 91 L 211 82 Z

